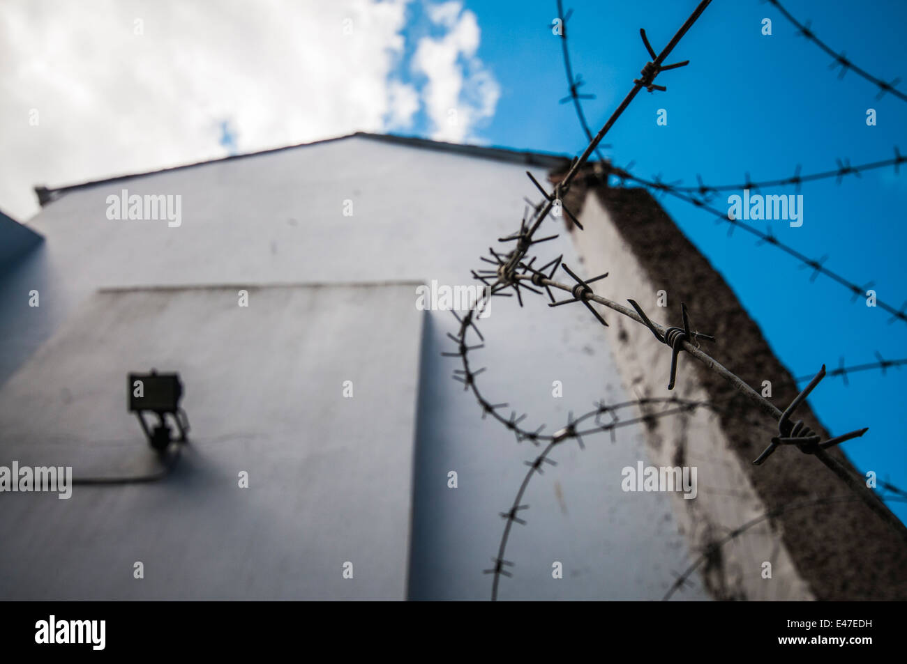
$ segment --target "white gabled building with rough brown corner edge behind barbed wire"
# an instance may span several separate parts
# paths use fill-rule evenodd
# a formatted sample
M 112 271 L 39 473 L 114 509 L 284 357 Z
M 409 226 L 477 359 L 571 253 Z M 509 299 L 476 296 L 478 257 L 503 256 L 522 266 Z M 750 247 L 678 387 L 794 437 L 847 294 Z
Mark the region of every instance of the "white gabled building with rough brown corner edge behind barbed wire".
M 419 300 L 433 300 L 425 285 L 434 304 L 445 287 L 467 293 L 478 256 L 524 214 L 526 169 L 544 181 L 566 164 L 360 133 L 37 188 L 27 229 L 0 218 L 15 239 L 0 256 L 0 465 L 160 479 L 65 500 L 4 494 L 0 528 L 15 536 L 0 547 L 0 597 L 488 599 L 501 513 L 538 450 L 451 380 L 459 360 L 441 353 L 456 322 Z M 789 401 L 789 374 L 720 276 L 648 194 L 599 176 L 590 168 L 567 201 L 585 230 L 546 222 L 559 236 L 540 254 L 609 272 L 603 292 L 658 321 L 688 303 L 717 357 Z M 142 218 L 128 218 L 133 196 Z M 551 431 L 593 400 L 668 396 L 668 354 L 649 331 L 514 300 L 493 299 L 474 351 L 502 412 Z M 169 472 L 125 408 L 126 376 L 152 368 L 185 388 L 190 443 Z M 679 375 L 678 398 L 728 394 L 683 355 Z M 795 497 L 844 493 L 803 455 L 754 470 L 770 422 L 736 402 L 619 413 L 640 415 L 613 443 L 558 448 L 533 478 L 501 599 L 658 600 L 691 564 L 676 599 L 905 596 L 902 544 L 858 503 L 791 510 L 717 545 Z M 639 463 L 697 467 L 697 497 L 624 491 L 622 469 Z

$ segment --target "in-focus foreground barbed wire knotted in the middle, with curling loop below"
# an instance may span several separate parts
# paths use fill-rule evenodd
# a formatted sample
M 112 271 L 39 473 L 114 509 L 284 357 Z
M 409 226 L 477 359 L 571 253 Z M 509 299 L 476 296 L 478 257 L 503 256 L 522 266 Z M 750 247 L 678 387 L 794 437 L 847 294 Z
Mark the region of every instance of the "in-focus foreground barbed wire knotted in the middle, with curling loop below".
M 666 345 L 670 346 L 672 349 L 672 381 L 669 388 L 673 387 L 673 374 L 676 372 L 676 361 L 677 355 L 680 351 L 687 351 L 688 354 L 692 355 L 703 363 L 708 370 L 711 370 L 718 375 L 722 376 L 727 380 L 740 394 L 742 394 L 746 399 L 751 401 L 756 407 L 762 412 L 770 415 L 772 418 L 777 419 L 778 424 L 778 435 L 775 438 L 772 438 L 769 447 L 766 448 L 766 451 L 756 459 L 756 462 L 762 463 L 766 460 L 770 454 L 775 451 L 775 447 L 783 445 L 794 445 L 799 448 L 801 452 L 805 454 L 813 455 L 818 458 L 826 467 L 831 469 L 836 476 L 844 481 L 846 486 L 848 486 L 856 496 L 859 496 L 863 503 L 867 505 L 870 509 L 873 510 L 877 515 L 879 515 L 883 521 L 885 521 L 892 529 L 901 535 L 904 540 L 907 540 L 907 528 L 894 516 L 892 513 L 885 507 L 878 496 L 875 496 L 873 492 L 864 490 L 862 478 L 853 475 L 853 471 L 846 467 L 842 462 L 838 461 L 836 458 L 831 457 L 825 451 L 828 447 L 836 446 L 845 440 L 852 438 L 857 438 L 863 436 L 867 429 L 857 429 L 844 436 L 838 436 L 831 438 L 824 442 L 819 440 L 819 437 L 814 434 L 809 428 L 805 427 L 802 421 L 792 422 L 791 417 L 795 409 L 805 400 L 806 396 L 811 390 L 815 388 L 820 380 L 824 378 L 825 369 L 824 366 L 814 376 L 814 379 L 811 381 L 810 385 L 798 395 L 791 405 L 782 412 L 781 410 L 775 408 L 775 406 L 761 397 L 756 390 L 753 390 L 744 380 L 741 380 L 734 373 L 727 370 L 722 366 L 717 360 L 709 356 L 705 351 L 702 351 L 699 347 L 698 340 L 711 340 L 712 338 L 702 334 L 700 332 L 694 332 L 690 330 L 688 322 L 688 313 L 686 311 L 686 306 L 683 306 L 683 327 L 672 326 L 664 328 L 657 323 L 649 321 L 649 318 L 645 313 L 641 311 L 639 305 L 633 301 L 629 301 L 634 306 L 636 311 L 628 309 L 626 306 L 612 302 L 606 298 L 601 297 L 598 294 L 594 294 L 590 287 L 590 283 L 600 280 L 608 276 L 608 274 L 601 274 L 597 277 L 594 277 L 588 281 L 582 280 L 577 274 L 574 274 L 567 265 L 562 264 L 562 255 L 551 260 L 549 263 L 542 265 L 540 268 L 534 268 L 533 265 L 538 258 L 538 256 L 532 256 L 528 258 L 527 255 L 533 245 L 537 245 L 543 242 L 547 242 L 553 239 L 555 236 L 548 236 L 541 239 L 535 239 L 534 236 L 539 230 L 542 222 L 545 218 L 548 217 L 552 211 L 555 217 L 560 217 L 561 213 L 566 213 L 574 223 L 582 229 L 582 226 L 579 220 L 573 215 L 570 210 L 563 204 L 563 197 L 569 192 L 571 188 L 571 183 L 574 178 L 580 173 L 580 169 L 586 164 L 589 160 L 592 153 L 597 149 L 600 144 L 600 141 L 608 133 L 610 128 L 614 123 L 619 119 L 620 115 L 625 111 L 629 103 L 633 101 L 636 95 L 643 88 L 652 91 L 665 91 L 661 85 L 656 84 L 654 81 L 658 76 L 658 73 L 667 71 L 670 69 L 676 69 L 688 64 L 688 61 L 681 63 L 674 63 L 666 65 L 664 64 L 665 59 L 668 57 L 668 54 L 673 51 L 674 47 L 678 44 L 680 39 L 686 34 L 689 28 L 694 24 L 700 14 L 706 9 L 710 4 L 711 0 L 702 0 L 697 8 L 692 14 L 688 17 L 687 21 L 680 27 L 678 32 L 674 35 L 668 45 L 662 50 L 661 53 L 656 54 L 652 48 L 649 40 L 646 36 L 645 30 L 640 29 L 639 34 L 642 39 L 643 44 L 646 47 L 647 52 L 651 56 L 650 60 L 640 72 L 640 77 L 634 79 L 633 87 L 620 102 L 618 108 L 613 111 L 610 115 L 610 118 L 605 122 L 602 128 L 599 130 L 598 134 L 592 140 L 590 140 L 589 145 L 578 158 L 574 158 L 571 161 L 571 165 L 568 168 L 566 174 L 561 179 L 561 181 L 555 183 L 554 190 L 552 192 L 547 192 L 541 185 L 538 183 L 535 178 L 532 178 L 532 174 L 527 172 L 527 175 L 532 180 L 532 184 L 538 188 L 544 199 L 537 205 L 532 207 L 532 215 L 529 214 L 529 209 L 526 210 L 526 214 L 522 218 L 520 229 L 514 233 L 512 236 L 506 236 L 499 238 L 499 241 L 502 243 L 515 243 L 512 245 L 512 249 L 509 251 L 496 252 L 492 247 L 489 247 L 489 254 L 492 256 L 482 256 L 481 259 L 488 264 L 494 266 L 494 269 L 483 269 L 479 271 L 473 271 L 473 277 L 483 282 L 482 294 L 474 303 L 473 309 L 467 312 L 463 318 L 457 316 L 457 321 L 460 323 L 460 327 L 456 336 L 449 334 L 448 336 L 456 344 L 457 350 L 455 352 L 445 352 L 444 355 L 459 357 L 462 361 L 463 368 L 460 370 L 455 370 L 453 378 L 459 380 L 463 383 L 463 390 L 473 390 L 473 396 L 478 400 L 480 406 L 483 409 L 483 417 L 491 414 L 494 419 L 498 419 L 505 427 L 510 428 L 517 439 L 518 442 L 521 442 L 523 439 L 529 439 L 533 443 L 538 444 L 541 440 L 548 442 L 545 451 L 540 457 L 537 457 L 534 467 L 531 467 L 532 472 L 537 469 L 541 469 L 541 464 L 545 463 L 545 460 L 548 457 L 548 454 L 555 445 L 560 444 L 561 442 L 567 440 L 568 438 L 576 438 L 577 442 L 582 446 L 581 436 L 584 432 L 580 431 L 577 427 L 577 420 L 572 419 L 572 415 L 569 417 L 567 426 L 561 428 L 559 431 L 555 432 L 552 436 L 542 435 L 541 430 L 544 428 L 542 425 L 541 428 L 538 428 L 534 431 L 528 429 L 523 429 L 520 427 L 520 423 L 527 416 L 523 414 L 518 419 L 516 416 L 516 411 L 512 411 L 512 415 L 509 419 L 504 418 L 498 411 L 500 409 L 508 408 L 507 403 L 493 403 L 487 399 L 484 399 L 481 392 L 478 390 L 478 387 L 475 384 L 476 377 L 481 374 L 485 369 L 473 370 L 469 362 L 469 352 L 483 348 L 483 343 L 480 343 L 475 346 L 471 346 L 467 341 L 467 333 L 472 330 L 478 337 L 480 342 L 484 342 L 482 333 L 479 332 L 478 327 L 473 321 L 473 314 L 481 312 L 484 306 L 493 296 L 511 296 L 516 295 L 518 302 L 522 306 L 522 292 L 527 293 L 541 294 L 541 289 L 544 288 L 547 292 L 549 298 L 551 299 L 550 306 L 560 306 L 561 304 L 566 303 L 582 303 L 590 313 L 592 313 L 598 322 L 603 325 L 608 325 L 608 322 L 598 313 L 594 307 L 591 306 L 590 302 L 604 304 L 610 309 L 621 313 L 633 320 L 645 324 L 649 327 L 649 330 L 656 336 L 659 342 L 663 342 Z M 553 281 L 551 277 L 555 274 L 558 267 L 561 267 L 570 274 L 571 278 L 575 284 L 560 284 Z M 820 265 L 821 267 L 821 265 Z M 550 268 L 550 273 L 546 272 Z M 532 284 L 532 285 L 530 285 Z M 533 287 L 535 286 L 535 287 Z M 551 293 L 551 288 L 557 288 L 564 291 L 567 291 L 573 295 L 572 299 L 564 300 L 561 302 L 554 301 L 553 294 Z M 512 289 L 512 293 L 510 293 Z M 507 291 L 507 293 L 504 293 Z M 454 315 L 456 315 L 454 313 Z M 610 407 L 607 407 L 604 404 L 600 404 L 600 408 L 603 409 L 603 412 L 608 412 Z M 599 417 L 600 413 L 598 410 L 591 411 L 589 414 L 590 417 Z M 613 423 L 612 423 L 613 424 Z M 607 427 L 606 427 L 607 428 Z M 611 430 L 613 430 L 613 426 Z M 596 429 L 596 430 L 600 430 Z M 528 484 L 528 479 L 524 480 L 524 484 Z M 511 511 L 505 513 L 508 516 L 507 524 L 507 534 L 509 536 L 510 525 L 512 524 L 512 517 L 515 517 L 516 513 L 520 511 L 520 500 L 522 499 L 522 492 L 525 489 L 522 488 L 521 492 L 518 493 L 517 500 L 511 508 Z M 493 558 L 494 567 L 492 570 L 489 570 L 489 573 L 493 573 L 493 587 L 496 588 L 497 584 L 502 575 L 509 575 L 506 572 L 505 568 L 512 565 L 512 562 L 506 561 L 502 557 L 502 550 L 499 549 L 499 554 Z

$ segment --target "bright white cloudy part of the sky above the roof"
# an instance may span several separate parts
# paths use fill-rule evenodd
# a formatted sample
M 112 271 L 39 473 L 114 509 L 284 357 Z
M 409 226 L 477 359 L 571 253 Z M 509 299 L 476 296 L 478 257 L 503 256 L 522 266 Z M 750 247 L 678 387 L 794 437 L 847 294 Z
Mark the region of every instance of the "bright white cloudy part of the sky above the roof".
M 2 0 L 0 209 L 355 130 L 481 141 L 480 40 L 457 0 Z

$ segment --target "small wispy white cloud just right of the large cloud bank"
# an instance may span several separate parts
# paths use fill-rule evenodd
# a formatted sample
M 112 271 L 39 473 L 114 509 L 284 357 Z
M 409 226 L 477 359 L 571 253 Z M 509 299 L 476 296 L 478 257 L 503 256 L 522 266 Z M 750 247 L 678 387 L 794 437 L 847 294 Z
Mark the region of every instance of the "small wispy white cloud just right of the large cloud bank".
M 493 115 L 501 90 L 475 57 L 480 38 L 475 14 L 454 0 L 430 8 L 429 16 L 448 32 L 419 41 L 413 70 L 427 78 L 423 96 L 432 138 L 463 142 L 478 122 Z

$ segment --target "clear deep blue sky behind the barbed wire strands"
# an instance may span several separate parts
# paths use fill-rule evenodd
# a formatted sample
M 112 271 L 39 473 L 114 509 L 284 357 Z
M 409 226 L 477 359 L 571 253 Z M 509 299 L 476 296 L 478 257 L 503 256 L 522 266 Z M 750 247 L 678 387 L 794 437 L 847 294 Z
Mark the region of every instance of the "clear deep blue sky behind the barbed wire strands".
M 547 27 L 556 15 L 551 2 L 467 2 L 482 29 L 479 57 L 501 86 L 493 119 L 480 134 L 495 145 L 579 153 L 586 145 L 566 94 L 560 43 Z M 598 130 L 646 62 L 639 40 L 645 27 L 658 51 L 695 2 L 639 0 L 633 3 L 565 3 L 572 7 L 569 24 L 575 72 L 587 81 L 583 91 L 597 95 L 584 108 Z M 885 0 L 869 3 L 789 0 L 788 11 L 801 21 L 812 19 L 818 36 L 844 50 L 854 63 L 891 81 L 907 78 L 907 4 Z M 772 35 L 761 34 L 762 19 L 771 18 Z M 785 178 L 795 165 L 803 172 L 829 170 L 835 158 L 853 164 L 890 159 L 892 146 L 907 151 L 907 103 L 886 96 L 876 101 L 874 86 L 848 72 L 843 81 L 829 71 L 830 58 L 814 44 L 795 36 L 774 7 L 757 0 L 715 2 L 691 29 L 670 59 L 690 65 L 662 74 L 667 92 L 641 93 L 607 139 L 605 150 L 619 165 L 636 161 L 642 177 L 661 173 L 666 181 L 695 185 L 700 173 L 709 184 Z M 898 86 L 899 89 L 907 87 Z M 659 108 L 668 125 L 658 126 Z M 877 125 L 866 125 L 874 108 Z M 903 167 L 902 167 L 903 168 Z M 870 281 L 878 297 L 900 307 L 907 300 L 903 270 L 905 235 L 903 202 L 907 174 L 893 168 L 834 180 L 807 183 L 804 225 L 779 221 L 775 235 L 806 255 L 829 255 L 827 266 L 858 284 Z M 766 193 L 795 193 L 771 188 Z M 727 208 L 726 197 L 716 207 Z M 670 197 L 666 207 L 688 237 L 724 275 L 781 361 L 795 375 L 809 374 L 826 363 L 837 366 L 874 361 L 874 351 L 888 359 L 907 356 L 907 324 L 888 323 L 890 315 L 851 302 L 840 285 L 809 271 L 771 246 Z M 874 470 L 898 486 L 907 486 L 907 450 L 902 428 L 904 370 L 883 376 L 872 371 L 826 378 L 811 402 L 833 433 L 862 426 L 870 431 L 844 449 L 861 470 Z M 816 472 L 827 472 L 817 466 Z M 907 518 L 907 505 L 892 504 Z

